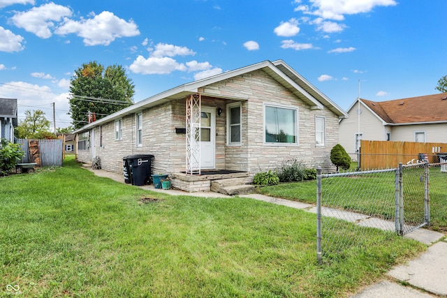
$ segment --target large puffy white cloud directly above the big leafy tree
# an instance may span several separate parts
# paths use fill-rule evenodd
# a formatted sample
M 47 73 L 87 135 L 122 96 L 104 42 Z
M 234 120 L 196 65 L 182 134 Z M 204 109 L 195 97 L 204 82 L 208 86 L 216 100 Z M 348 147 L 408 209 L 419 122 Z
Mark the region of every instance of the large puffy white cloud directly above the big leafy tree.
M 130 20 L 126 22 L 109 11 L 80 21 L 65 18 L 64 24 L 54 33 L 66 35 L 75 33 L 84 38 L 85 45 L 110 45 L 116 38 L 138 36 L 138 26 Z

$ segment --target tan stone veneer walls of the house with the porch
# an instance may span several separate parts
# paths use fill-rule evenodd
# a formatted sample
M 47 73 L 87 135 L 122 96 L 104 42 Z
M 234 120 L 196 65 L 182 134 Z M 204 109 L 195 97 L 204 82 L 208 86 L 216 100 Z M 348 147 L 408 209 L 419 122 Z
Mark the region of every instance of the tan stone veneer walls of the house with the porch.
M 256 172 L 273 170 L 277 165 L 297 158 L 306 165 L 320 165 L 325 171 L 335 170 L 330 162 L 330 149 L 338 142 L 338 117 L 326 107 L 311 107 L 281 86 L 263 70 L 210 84 L 199 90 L 203 107 L 221 107 L 216 114 L 216 168 L 249 172 L 250 181 Z M 226 145 L 226 105 L 240 98 L 242 104 L 242 144 Z M 264 104 L 298 107 L 298 144 L 265 144 Z M 315 145 L 315 116 L 325 117 L 325 147 Z M 115 140 L 115 121 L 103 124 L 103 147 L 99 146 L 96 130 L 96 156 L 101 157 L 104 170 L 122 173 L 122 158 L 131 154 L 152 154 L 152 172 L 166 173 L 185 170 L 185 134 L 175 128 L 185 127 L 185 99 L 173 100 L 142 110 L 142 147 L 135 144 L 135 114 L 123 117 L 123 138 Z M 93 140 L 92 140 L 93 141 Z M 91 161 L 91 149 L 78 151 L 78 160 Z M 200 186 L 200 189 L 204 186 Z

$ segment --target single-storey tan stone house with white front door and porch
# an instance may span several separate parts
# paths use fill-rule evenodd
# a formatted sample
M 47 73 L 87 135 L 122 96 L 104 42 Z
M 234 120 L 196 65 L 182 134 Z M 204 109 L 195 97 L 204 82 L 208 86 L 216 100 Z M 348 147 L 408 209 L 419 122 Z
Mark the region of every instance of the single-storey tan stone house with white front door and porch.
M 191 124 L 197 108 L 200 117 Z M 124 156 L 153 154 L 152 172 L 175 174 L 174 187 L 209 190 L 210 181 L 192 185 L 198 178 L 189 172 L 189 162 L 197 156 L 204 177 L 206 170 L 235 170 L 252 181 L 257 172 L 292 158 L 335 169 L 330 150 L 344 117 L 346 112 L 284 61 L 263 61 L 184 84 L 94 121 L 74 132 L 76 154 L 82 162 L 99 156 L 101 167 L 113 172 L 122 172 Z M 190 132 L 198 127 L 201 139 L 194 142 L 199 133 Z

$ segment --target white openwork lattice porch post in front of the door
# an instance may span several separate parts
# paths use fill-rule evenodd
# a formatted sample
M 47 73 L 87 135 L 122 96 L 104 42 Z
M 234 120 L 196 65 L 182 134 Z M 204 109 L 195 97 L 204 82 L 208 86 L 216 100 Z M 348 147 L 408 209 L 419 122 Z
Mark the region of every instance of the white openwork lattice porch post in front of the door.
M 186 174 L 200 175 L 200 112 L 202 96 L 186 96 Z

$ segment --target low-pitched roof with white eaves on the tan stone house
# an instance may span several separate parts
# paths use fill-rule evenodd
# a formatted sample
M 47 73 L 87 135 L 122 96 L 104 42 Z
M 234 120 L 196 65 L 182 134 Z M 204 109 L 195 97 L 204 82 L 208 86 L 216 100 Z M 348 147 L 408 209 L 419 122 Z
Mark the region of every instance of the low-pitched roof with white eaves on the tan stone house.
M 80 133 L 86 131 L 87 129 L 93 128 L 95 126 L 101 125 L 105 122 L 112 121 L 114 119 L 119 119 L 125 115 L 133 114 L 138 112 L 142 108 L 153 107 L 161 103 L 166 103 L 170 100 L 177 100 L 180 98 L 185 98 L 191 93 L 197 93 L 200 88 L 207 85 L 214 84 L 223 80 L 227 80 L 231 77 L 237 77 L 238 75 L 244 75 L 245 73 L 250 73 L 254 70 L 263 70 L 268 73 L 274 80 L 277 80 L 279 84 L 282 84 L 287 89 L 291 90 L 295 96 L 303 100 L 305 103 L 310 105 L 312 109 L 318 110 L 327 107 L 329 110 L 337 114 L 340 118 L 349 117 L 342 108 L 336 105 L 332 100 L 325 96 L 321 91 L 316 89 L 312 84 L 307 82 L 299 73 L 297 73 L 293 68 L 288 66 L 284 61 L 277 60 L 274 62 L 263 61 L 258 64 L 252 64 L 250 66 L 245 66 L 243 68 L 237 68 L 235 70 L 230 70 L 226 73 L 221 73 L 219 75 L 214 75 L 212 77 L 206 77 L 202 80 L 197 80 L 195 82 L 190 82 L 187 84 L 182 84 L 179 87 L 169 89 L 155 96 L 141 100 L 129 107 L 119 110 L 107 117 L 101 118 L 97 121 L 87 124 L 86 126 L 74 131 L 73 133 Z M 208 94 L 200 92 L 200 94 L 207 96 Z M 215 94 L 210 94 L 210 96 L 215 97 Z M 221 98 L 244 100 L 248 99 L 247 95 L 241 94 L 240 97 L 231 96 L 220 96 Z

